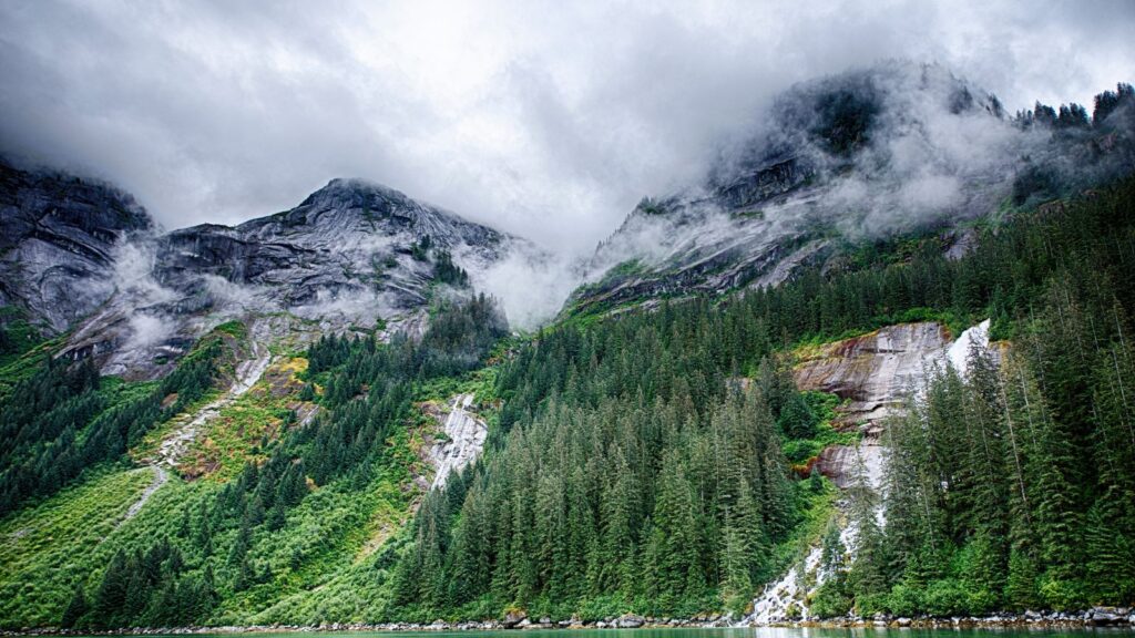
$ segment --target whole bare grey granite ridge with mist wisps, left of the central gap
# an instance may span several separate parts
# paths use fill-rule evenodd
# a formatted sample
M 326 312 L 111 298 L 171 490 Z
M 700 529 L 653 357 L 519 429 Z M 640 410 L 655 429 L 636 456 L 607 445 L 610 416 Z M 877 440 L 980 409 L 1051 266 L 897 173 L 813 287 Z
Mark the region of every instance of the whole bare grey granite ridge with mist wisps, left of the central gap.
M 295 321 L 274 325 L 420 330 L 432 299 L 470 294 L 505 258 L 543 255 L 355 179 L 239 226 L 161 234 L 111 187 L 7 166 L 0 176 L 0 305 L 23 308 L 48 333 L 69 330 L 64 355 L 129 378 L 161 376 L 229 319 L 285 313 Z

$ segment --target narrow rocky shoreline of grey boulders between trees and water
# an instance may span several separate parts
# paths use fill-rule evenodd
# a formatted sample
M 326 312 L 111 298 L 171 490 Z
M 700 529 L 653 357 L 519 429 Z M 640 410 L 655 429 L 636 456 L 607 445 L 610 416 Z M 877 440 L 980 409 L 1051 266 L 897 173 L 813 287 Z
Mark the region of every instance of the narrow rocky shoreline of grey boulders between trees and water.
M 955 616 L 955 618 L 906 618 L 876 615 L 872 619 L 843 618 L 825 620 L 799 620 L 754 624 L 734 621 L 730 615 L 708 614 L 690 619 L 669 619 L 623 614 L 619 618 L 582 621 L 578 618 L 553 620 L 541 618 L 532 620 L 523 614 L 511 613 L 504 620 L 446 622 L 437 620 L 429 624 L 413 622 L 389 623 L 321 623 L 302 624 L 257 624 L 227 627 L 175 627 L 175 628 L 129 628 L 110 631 L 84 631 L 57 628 L 23 629 L 19 631 L 0 631 L 0 636 L 163 636 L 163 635 L 197 635 L 197 633 L 301 633 L 301 632 L 364 632 L 364 631 L 501 631 L 533 629 L 724 629 L 724 628 L 875 628 L 875 629 L 994 629 L 994 628 L 1054 628 L 1073 629 L 1085 627 L 1135 627 L 1135 610 L 1129 607 L 1093 607 L 1083 612 L 1025 612 L 1023 614 L 997 614 L 990 616 Z

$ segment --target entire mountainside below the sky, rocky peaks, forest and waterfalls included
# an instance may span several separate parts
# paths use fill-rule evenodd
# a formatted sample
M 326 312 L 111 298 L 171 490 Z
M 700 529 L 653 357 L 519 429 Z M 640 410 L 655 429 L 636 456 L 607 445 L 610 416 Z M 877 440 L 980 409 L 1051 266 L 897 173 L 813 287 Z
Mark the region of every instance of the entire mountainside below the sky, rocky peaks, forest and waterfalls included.
M 1135 622 L 1133 102 L 800 85 L 532 334 L 382 186 L 7 168 L 0 629 Z

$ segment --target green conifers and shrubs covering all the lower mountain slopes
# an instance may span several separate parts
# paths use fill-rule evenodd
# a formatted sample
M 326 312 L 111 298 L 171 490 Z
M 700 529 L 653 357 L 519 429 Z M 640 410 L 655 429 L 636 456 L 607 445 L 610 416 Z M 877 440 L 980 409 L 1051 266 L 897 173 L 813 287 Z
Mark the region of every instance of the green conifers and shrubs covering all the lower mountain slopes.
M 417 343 L 277 349 L 133 518 L 154 472 L 124 452 L 142 457 L 213 396 L 245 328 L 218 327 L 150 384 L 27 342 L 34 364 L 0 400 L 0 627 L 740 611 L 817 542 L 833 576 L 817 613 L 1129 602 L 1133 201 L 1125 182 L 977 228 L 957 261 L 899 242 L 724 302 L 526 338 L 479 296 L 438 302 Z M 858 435 L 836 397 L 797 389 L 792 349 L 986 317 L 1012 339 L 1003 363 L 975 354 L 888 427 L 885 524 L 861 481 L 838 493 L 809 473 Z M 423 493 L 426 410 L 463 392 L 490 425 L 485 454 Z

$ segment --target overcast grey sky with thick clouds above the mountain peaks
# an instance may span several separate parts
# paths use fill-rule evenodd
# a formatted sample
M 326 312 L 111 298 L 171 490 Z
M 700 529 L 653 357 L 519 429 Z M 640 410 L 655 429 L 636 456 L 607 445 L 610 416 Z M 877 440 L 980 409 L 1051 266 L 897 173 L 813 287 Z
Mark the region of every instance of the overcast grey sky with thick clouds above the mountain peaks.
M 1090 104 L 1133 79 L 1133 0 L 0 0 L 0 150 L 167 228 L 343 176 L 586 251 L 794 82 L 910 58 L 1009 110 Z

